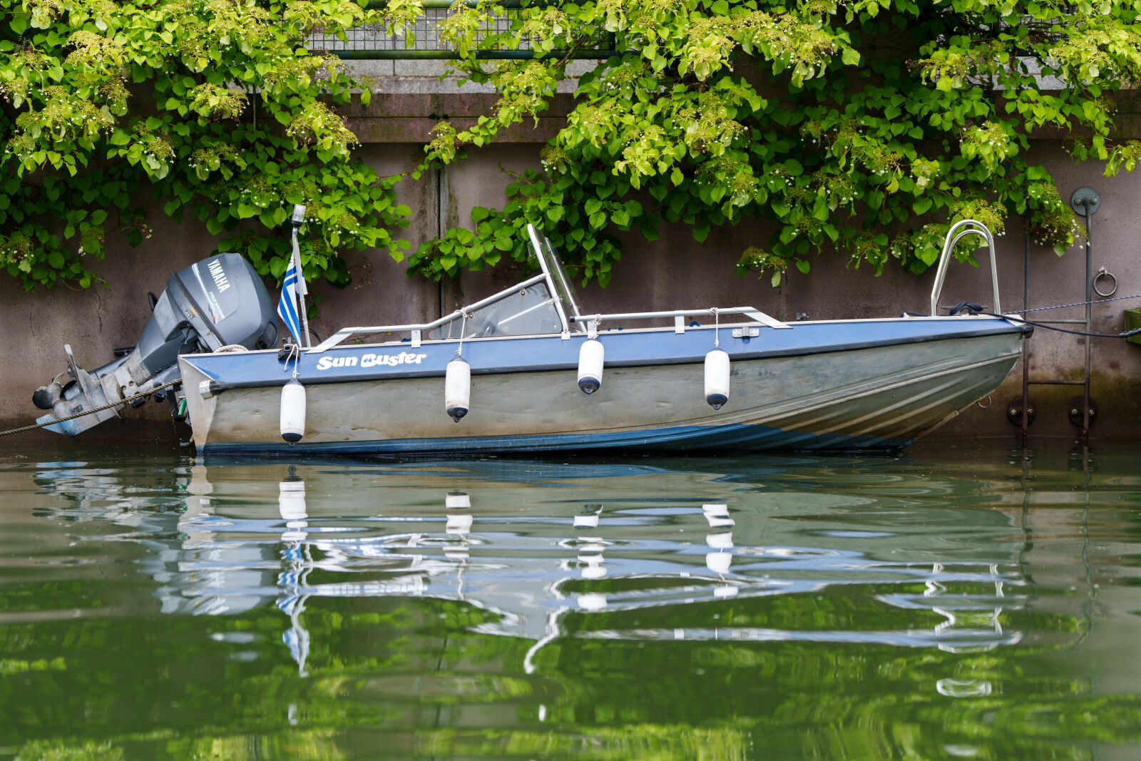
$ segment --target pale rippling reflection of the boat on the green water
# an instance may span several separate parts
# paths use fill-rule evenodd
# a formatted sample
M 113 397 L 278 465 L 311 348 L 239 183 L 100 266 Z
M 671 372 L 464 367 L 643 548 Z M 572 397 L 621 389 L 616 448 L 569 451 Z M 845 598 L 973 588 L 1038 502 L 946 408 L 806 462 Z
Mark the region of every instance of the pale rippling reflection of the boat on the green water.
M 157 532 L 179 539 L 141 540 L 155 550 L 143 566 L 161 583 L 164 613 L 227 615 L 274 602 L 301 673 L 306 607 L 324 598 L 463 601 L 486 613 L 471 631 L 533 641 L 527 673 L 563 635 L 952 653 L 1022 637 L 1009 623 L 1027 604 L 1020 529 L 1004 512 L 966 510 L 980 496 L 971 481 L 932 478 L 917 488 L 911 479 L 909 499 L 899 499 L 876 493 L 890 491 L 890 478 L 851 493 L 814 493 L 810 483 L 788 493 L 748 471 L 515 464 L 517 480 L 511 463 L 193 465 L 185 510 Z M 908 512 L 932 497 L 934 513 Z M 932 517 L 942 525 L 929 525 Z M 650 625 L 662 616 L 638 615 L 772 596 L 824 602 L 845 588 L 880 609 L 869 617 L 879 625 L 762 625 L 774 616 Z M 599 628 L 563 624 L 602 612 L 622 615 Z

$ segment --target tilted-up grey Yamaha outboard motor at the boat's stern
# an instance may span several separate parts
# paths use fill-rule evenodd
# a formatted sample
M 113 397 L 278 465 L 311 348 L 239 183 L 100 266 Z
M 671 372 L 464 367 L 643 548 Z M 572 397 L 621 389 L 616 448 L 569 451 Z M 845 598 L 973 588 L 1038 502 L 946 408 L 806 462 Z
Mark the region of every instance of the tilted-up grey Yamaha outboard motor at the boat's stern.
M 154 315 L 138 343 L 116 350 L 120 356 L 102 367 L 81 370 L 71 346 L 64 345 L 67 370 L 32 395 L 35 406 L 51 411 L 37 422 L 102 407 L 177 380 L 180 354 L 204 354 L 228 346 L 268 349 L 277 343 L 277 317 L 266 286 L 250 262 L 236 253 L 220 253 L 171 273 L 167 290 L 157 299 L 152 296 L 151 301 Z M 175 394 L 168 391 L 167 397 L 173 407 Z M 131 404 L 144 402 L 139 398 Z M 44 428 L 75 436 L 118 416 L 124 405 Z

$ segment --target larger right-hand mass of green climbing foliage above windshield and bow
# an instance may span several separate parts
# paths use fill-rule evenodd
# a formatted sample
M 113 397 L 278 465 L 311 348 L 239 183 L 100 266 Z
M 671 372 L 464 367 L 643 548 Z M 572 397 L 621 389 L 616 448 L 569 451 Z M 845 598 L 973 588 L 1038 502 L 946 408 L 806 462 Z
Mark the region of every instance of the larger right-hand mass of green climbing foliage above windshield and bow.
M 1025 214 L 1034 238 L 1061 253 L 1078 226 L 1027 156 L 1031 135 L 1062 131 L 1076 159 L 1106 162 L 1107 175 L 1141 155 L 1141 144 L 1112 139 L 1112 96 L 1141 79 L 1139 0 L 536 2 L 511 11 L 509 31 L 480 37 L 503 14 L 482 3 L 442 30 L 464 74 L 502 97 L 469 129 L 442 123 L 430 161 L 537 116 L 569 51 L 614 34 L 620 55 L 580 79 L 543 173 L 512 183 L 503 209 L 477 209 L 476 235 L 451 230 L 416 251 L 413 267 L 437 277 L 524 258 L 499 241 L 527 221 L 602 284 L 615 232 L 653 240 L 662 222 L 702 242 L 713 226 L 764 220 L 774 233 L 738 269 L 774 284 L 832 251 L 877 273 L 891 259 L 923 272 L 948 222 L 968 217 L 1001 234 Z M 547 57 L 476 57 L 525 40 Z M 971 257 L 965 245 L 956 253 Z

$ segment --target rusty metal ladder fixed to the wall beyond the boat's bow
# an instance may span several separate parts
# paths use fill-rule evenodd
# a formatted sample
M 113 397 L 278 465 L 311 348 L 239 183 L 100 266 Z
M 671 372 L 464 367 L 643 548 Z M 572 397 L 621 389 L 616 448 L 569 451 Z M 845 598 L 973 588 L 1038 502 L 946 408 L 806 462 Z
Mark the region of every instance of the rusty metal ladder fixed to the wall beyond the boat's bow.
M 1098 196 L 1098 192 L 1092 187 L 1079 187 L 1074 191 L 1074 195 L 1070 196 L 1070 207 L 1079 216 L 1085 218 L 1085 319 L 1043 319 L 1039 322 L 1047 323 L 1066 323 L 1073 325 L 1085 325 L 1085 332 L 1090 333 L 1091 326 L 1093 325 L 1093 249 L 1091 241 L 1092 225 L 1090 218 L 1093 217 L 1094 212 L 1098 211 L 1098 207 L 1101 205 L 1101 199 Z M 1030 308 L 1030 235 L 1029 229 L 1026 230 L 1026 253 L 1023 264 L 1023 283 L 1022 283 L 1022 308 Z M 1009 412 L 1011 413 L 1010 421 L 1015 423 L 1021 428 L 1021 444 L 1026 446 L 1026 436 L 1034 421 L 1034 405 L 1030 402 L 1030 386 L 1081 386 L 1082 396 L 1073 399 L 1067 405 L 1068 416 L 1070 422 L 1075 426 L 1082 428 L 1082 444 L 1083 446 L 1090 443 L 1090 423 L 1093 421 L 1093 415 L 1097 414 L 1095 407 L 1093 406 L 1093 400 L 1090 398 L 1090 367 L 1091 367 L 1091 341 L 1089 338 L 1085 339 L 1085 374 L 1082 380 L 1047 380 L 1047 379 L 1030 379 L 1030 353 L 1029 342 L 1022 342 L 1022 398 L 1021 404 L 1015 404 L 1014 400 L 1010 405 Z

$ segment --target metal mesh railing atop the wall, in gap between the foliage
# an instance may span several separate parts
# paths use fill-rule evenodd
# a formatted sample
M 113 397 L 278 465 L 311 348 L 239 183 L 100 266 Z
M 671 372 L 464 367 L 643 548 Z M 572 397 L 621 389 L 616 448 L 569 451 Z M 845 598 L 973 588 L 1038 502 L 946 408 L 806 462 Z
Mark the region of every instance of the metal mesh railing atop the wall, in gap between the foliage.
M 373 1 L 369 7 L 380 7 L 387 2 Z M 445 40 L 440 39 L 438 24 L 452 15 L 452 0 L 424 0 L 423 15 L 415 22 L 407 25 L 399 34 L 389 34 L 385 24 L 369 24 L 350 29 L 346 32 L 345 39 L 334 35 L 314 34 L 309 38 L 309 50 L 317 52 L 330 52 L 338 58 L 346 60 L 454 60 L 460 58 L 458 50 L 454 50 Z M 463 5 L 475 7 L 475 2 Z M 524 7 L 521 2 L 500 2 L 504 10 L 518 10 Z M 527 7 L 536 5 L 558 3 L 528 3 Z M 511 18 L 494 18 L 484 30 L 485 35 L 501 34 L 510 31 Z M 540 54 L 531 49 L 531 43 L 524 39 L 519 49 L 500 50 L 476 50 L 475 57 L 482 59 L 531 59 L 531 58 L 570 58 L 570 59 L 601 59 L 618 55 L 616 50 L 614 34 L 601 35 L 589 48 L 574 50 L 550 50 Z

